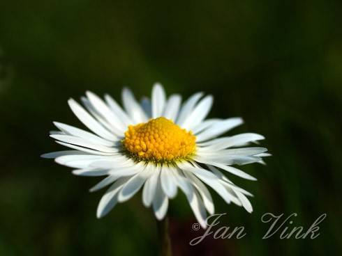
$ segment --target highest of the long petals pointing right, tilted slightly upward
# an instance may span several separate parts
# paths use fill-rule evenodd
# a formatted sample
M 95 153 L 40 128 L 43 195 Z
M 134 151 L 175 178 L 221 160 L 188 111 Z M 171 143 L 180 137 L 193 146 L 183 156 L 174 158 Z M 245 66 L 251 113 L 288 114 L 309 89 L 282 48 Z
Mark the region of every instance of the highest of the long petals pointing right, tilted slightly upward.
M 230 129 L 241 125 L 243 120 L 241 118 L 229 118 L 226 120 L 222 120 L 220 122 L 216 122 L 214 125 L 211 125 L 200 134 L 196 136 L 196 141 L 207 141 L 210 138 L 214 138 L 225 132 L 229 131 Z

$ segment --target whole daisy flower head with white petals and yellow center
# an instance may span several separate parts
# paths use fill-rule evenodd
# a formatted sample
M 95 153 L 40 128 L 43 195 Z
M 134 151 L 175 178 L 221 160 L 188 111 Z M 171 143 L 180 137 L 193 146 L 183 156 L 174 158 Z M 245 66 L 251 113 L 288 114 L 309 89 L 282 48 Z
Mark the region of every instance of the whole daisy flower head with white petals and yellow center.
M 241 125 L 241 118 L 207 118 L 213 103 L 211 95 L 195 93 L 181 104 L 181 96 L 165 96 L 156 83 L 151 99 L 137 102 L 131 90 L 122 91 L 123 108 L 110 95 L 101 99 L 91 92 L 68 104 L 90 131 L 54 122 L 59 131 L 50 136 L 72 150 L 43 154 L 61 165 L 74 168 L 74 175 L 103 176 L 90 189 L 109 186 L 96 215 L 105 216 L 117 202 L 125 202 L 142 189 L 145 207 L 153 207 L 158 220 L 168 211 L 169 199 L 183 191 L 202 227 L 206 214 L 214 214 L 214 202 L 207 186 L 230 204 L 253 211 L 251 196 L 223 173 L 256 180 L 233 165 L 261 162 L 265 147 L 241 147 L 264 139 L 245 133 L 218 138 Z M 207 185 L 207 186 L 206 186 Z

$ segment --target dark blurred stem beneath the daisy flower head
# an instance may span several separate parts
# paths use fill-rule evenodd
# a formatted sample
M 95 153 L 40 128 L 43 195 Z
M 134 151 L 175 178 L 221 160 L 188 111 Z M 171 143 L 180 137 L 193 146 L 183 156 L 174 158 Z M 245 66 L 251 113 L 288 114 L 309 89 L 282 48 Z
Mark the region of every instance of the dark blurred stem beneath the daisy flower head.
M 157 221 L 159 254 L 161 256 L 172 256 L 171 239 L 169 236 L 169 218 L 165 216 L 163 220 Z

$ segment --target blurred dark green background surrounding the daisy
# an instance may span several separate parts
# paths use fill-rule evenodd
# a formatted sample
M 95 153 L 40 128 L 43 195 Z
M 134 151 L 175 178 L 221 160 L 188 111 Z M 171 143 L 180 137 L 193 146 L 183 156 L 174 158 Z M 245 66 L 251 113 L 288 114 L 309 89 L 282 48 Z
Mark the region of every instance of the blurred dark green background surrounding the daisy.
M 341 1 L 1 1 L 0 255 L 156 255 L 156 221 L 141 194 L 96 219 L 95 177 L 40 159 L 61 150 L 52 121 L 82 127 L 66 103 L 85 90 L 119 99 L 160 81 L 184 98 L 215 97 L 211 117 L 242 116 L 232 133 L 266 136 L 267 166 L 235 178 L 255 211 L 226 205 L 223 225 L 243 239 L 205 239 L 181 193 L 170 205 L 175 255 L 341 255 Z M 262 240 L 266 212 L 309 227 L 317 239 Z

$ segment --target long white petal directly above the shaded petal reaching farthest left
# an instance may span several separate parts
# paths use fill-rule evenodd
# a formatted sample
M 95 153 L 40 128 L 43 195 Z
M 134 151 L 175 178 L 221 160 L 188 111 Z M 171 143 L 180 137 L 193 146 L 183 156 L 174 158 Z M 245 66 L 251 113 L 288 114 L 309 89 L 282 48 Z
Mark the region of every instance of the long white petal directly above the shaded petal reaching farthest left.
M 70 144 L 78 145 L 81 147 L 87 147 L 87 148 L 90 148 L 91 150 L 98 150 L 98 151 L 105 152 L 105 153 L 115 153 L 119 151 L 116 147 L 106 147 L 103 145 L 94 144 L 85 140 L 84 138 L 79 138 L 75 136 L 56 134 L 56 135 L 50 135 L 50 137 L 55 138 L 65 143 L 70 143 Z

